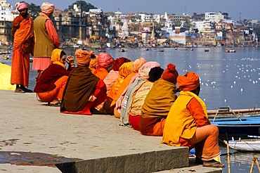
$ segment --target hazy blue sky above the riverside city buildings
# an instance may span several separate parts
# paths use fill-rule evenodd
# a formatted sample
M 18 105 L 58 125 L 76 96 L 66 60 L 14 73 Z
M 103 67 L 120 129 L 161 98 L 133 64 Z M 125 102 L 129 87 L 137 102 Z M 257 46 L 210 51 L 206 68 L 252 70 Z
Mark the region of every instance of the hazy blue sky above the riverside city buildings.
M 22 0 L 21 0 L 22 1 Z M 26 1 L 26 0 L 25 0 Z M 76 1 L 76 0 L 75 0 Z M 73 0 L 50 0 L 56 8 L 64 10 L 75 2 Z M 17 1 L 7 0 L 14 6 Z M 27 0 L 27 3 L 41 6 L 44 1 Z M 103 12 L 117 11 L 120 8 L 122 13 L 147 12 L 164 14 L 174 13 L 205 13 L 205 12 L 226 12 L 231 19 L 257 19 L 260 20 L 260 0 L 90 0 L 87 3 L 102 8 Z

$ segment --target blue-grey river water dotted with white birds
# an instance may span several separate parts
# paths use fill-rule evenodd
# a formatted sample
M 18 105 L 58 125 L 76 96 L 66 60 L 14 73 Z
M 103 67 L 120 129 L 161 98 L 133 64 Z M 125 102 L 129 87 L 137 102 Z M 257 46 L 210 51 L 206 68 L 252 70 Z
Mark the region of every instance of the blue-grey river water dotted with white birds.
M 205 50 L 208 51 L 205 51 Z M 230 106 L 232 109 L 260 108 L 260 48 L 232 48 L 235 53 L 226 53 L 227 48 L 164 48 L 161 49 L 106 49 L 113 58 L 126 57 L 131 60 L 143 57 L 147 61 L 157 61 L 162 68 L 174 63 L 179 75 L 188 71 L 196 72 L 201 79 L 200 98 L 208 110 Z M 76 49 L 64 49 L 67 55 L 74 55 Z M 91 51 L 91 49 L 88 49 Z M 93 49 L 98 54 L 97 49 Z M 10 55 L 11 57 L 12 55 Z M 11 59 L 0 60 L 11 65 Z M 32 65 L 32 63 L 31 63 Z M 34 89 L 36 71 L 30 71 L 29 88 Z M 221 161 L 226 165 L 223 172 L 228 172 L 226 146 L 219 141 Z M 230 150 L 231 172 L 249 172 L 253 155 Z M 258 158 L 260 158 L 259 154 Z M 254 169 L 257 172 L 257 167 Z

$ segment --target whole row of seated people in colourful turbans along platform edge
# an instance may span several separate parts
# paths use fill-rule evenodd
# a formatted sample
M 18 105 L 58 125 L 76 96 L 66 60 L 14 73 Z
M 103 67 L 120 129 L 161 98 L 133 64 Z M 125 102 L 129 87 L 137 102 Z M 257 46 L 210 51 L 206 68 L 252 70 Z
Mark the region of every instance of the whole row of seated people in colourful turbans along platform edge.
M 195 72 L 181 76 L 173 63 L 164 70 L 145 58 L 114 59 L 82 49 L 75 57 L 77 67 L 74 56 L 53 50 L 52 63 L 34 88 L 39 100 L 60 107 L 60 113 L 115 115 L 122 126 L 162 136 L 161 143 L 195 148 L 196 162 L 205 167 L 225 166 L 219 162 L 219 129 L 209 122 L 198 97 Z

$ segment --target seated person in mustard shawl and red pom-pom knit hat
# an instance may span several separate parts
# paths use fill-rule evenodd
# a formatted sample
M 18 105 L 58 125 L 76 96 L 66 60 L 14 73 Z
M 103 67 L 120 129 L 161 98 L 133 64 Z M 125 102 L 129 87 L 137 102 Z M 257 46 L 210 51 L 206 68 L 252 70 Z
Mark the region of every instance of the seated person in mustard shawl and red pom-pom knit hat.
M 155 81 L 145 98 L 141 108 L 139 130 L 148 136 L 162 136 L 164 122 L 176 100 L 176 82 L 178 71 L 172 63 L 162 72 L 160 79 Z M 129 117 L 130 118 L 130 117 Z

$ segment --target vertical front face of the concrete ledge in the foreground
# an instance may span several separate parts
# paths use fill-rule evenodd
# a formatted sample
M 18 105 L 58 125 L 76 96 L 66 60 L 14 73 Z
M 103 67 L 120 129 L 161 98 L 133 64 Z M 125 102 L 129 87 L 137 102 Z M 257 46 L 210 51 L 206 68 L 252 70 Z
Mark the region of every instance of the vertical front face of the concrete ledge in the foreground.
M 157 172 L 188 167 L 188 148 L 56 164 L 62 172 Z

